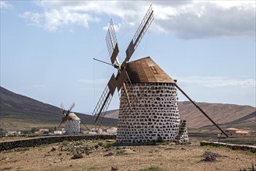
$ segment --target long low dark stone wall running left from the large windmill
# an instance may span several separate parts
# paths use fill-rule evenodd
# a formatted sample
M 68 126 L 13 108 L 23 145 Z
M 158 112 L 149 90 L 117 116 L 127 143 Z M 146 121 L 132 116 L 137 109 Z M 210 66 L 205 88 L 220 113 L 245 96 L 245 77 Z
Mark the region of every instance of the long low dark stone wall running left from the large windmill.
M 28 138 L 23 140 L 3 141 L 0 142 L 0 151 L 12 148 L 35 147 L 47 145 L 62 141 L 79 141 L 79 140 L 100 140 L 100 139 L 115 139 L 116 135 L 108 134 L 86 134 L 86 135 L 58 135 L 40 138 Z

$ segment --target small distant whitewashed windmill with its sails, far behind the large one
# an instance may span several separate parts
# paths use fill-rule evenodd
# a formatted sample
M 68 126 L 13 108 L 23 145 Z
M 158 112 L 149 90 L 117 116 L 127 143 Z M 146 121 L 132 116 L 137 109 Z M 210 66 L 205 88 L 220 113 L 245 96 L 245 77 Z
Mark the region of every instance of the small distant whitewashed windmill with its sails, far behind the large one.
M 61 103 L 61 110 L 62 110 L 62 120 L 61 124 L 65 122 L 65 133 L 66 134 L 75 134 L 80 132 L 80 118 L 75 115 L 75 113 L 72 113 L 71 110 L 74 108 L 75 103 L 72 103 L 72 105 L 69 107 L 68 110 L 65 110 L 63 104 Z M 58 127 L 61 126 L 59 124 Z

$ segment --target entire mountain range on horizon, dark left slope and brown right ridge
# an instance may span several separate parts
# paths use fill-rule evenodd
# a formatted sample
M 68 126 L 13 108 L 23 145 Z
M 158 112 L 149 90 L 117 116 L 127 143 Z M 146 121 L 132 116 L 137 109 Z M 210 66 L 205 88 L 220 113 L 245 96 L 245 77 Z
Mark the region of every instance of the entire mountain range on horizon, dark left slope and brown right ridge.
M 188 127 L 212 127 L 212 123 L 190 102 L 179 102 L 181 120 L 187 120 Z M 256 108 L 221 103 L 198 103 L 198 106 L 217 124 L 233 127 L 256 127 Z M 103 119 L 103 126 L 117 127 L 119 110 L 109 110 Z M 93 116 L 75 113 L 82 122 L 94 127 Z M 0 87 L 0 127 L 5 130 L 24 130 L 31 127 L 56 126 L 61 122 L 58 107 L 41 103 Z

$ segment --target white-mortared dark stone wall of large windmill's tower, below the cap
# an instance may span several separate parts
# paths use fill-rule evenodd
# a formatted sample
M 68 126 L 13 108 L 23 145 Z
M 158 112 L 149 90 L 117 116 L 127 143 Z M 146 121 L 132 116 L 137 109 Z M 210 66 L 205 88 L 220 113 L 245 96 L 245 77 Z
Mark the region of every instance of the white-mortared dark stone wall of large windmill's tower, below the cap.
M 177 89 L 174 84 L 133 83 L 127 89 L 132 101 L 132 111 L 122 89 L 117 143 L 173 141 L 180 125 Z M 137 99 L 134 98 L 135 95 Z

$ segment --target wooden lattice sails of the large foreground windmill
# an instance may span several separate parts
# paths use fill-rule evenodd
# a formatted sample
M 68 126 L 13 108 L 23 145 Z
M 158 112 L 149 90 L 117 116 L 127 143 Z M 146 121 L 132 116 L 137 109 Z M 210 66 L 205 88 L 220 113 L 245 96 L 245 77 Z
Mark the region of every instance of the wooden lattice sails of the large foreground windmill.
M 124 58 L 124 61 L 120 64 L 117 59 L 117 54 L 119 52 L 118 45 L 117 45 L 117 39 L 114 32 L 114 25 L 112 20 L 110 21 L 110 25 L 107 31 L 107 49 L 110 54 L 110 61 L 114 68 L 117 68 L 117 75 L 114 74 L 111 76 L 109 82 L 107 83 L 106 88 L 103 91 L 103 94 L 100 96 L 100 100 L 96 104 L 95 109 L 93 110 L 93 116 L 95 117 L 96 125 L 101 124 L 103 117 L 107 111 L 107 108 L 110 104 L 110 101 L 112 99 L 112 96 L 114 95 L 115 89 L 119 92 L 120 89 L 123 87 L 124 93 L 127 99 L 127 103 L 132 110 L 132 104 L 130 102 L 130 99 L 128 98 L 128 91 L 126 89 L 126 85 L 128 84 L 128 74 L 126 72 L 126 66 L 127 62 L 132 57 L 132 54 L 136 50 L 136 48 L 139 45 L 139 42 L 142 40 L 142 37 L 146 33 L 146 30 L 148 30 L 150 24 L 153 21 L 153 9 L 152 5 L 150 5 L 149 10 L 146 12 L 146 16 L 142 20 L 142 23 L 139 26 L 139 29 L 136 31 L 135 36 L 132 38 L 130 44 L 128 45 L 126 53 L 126 58 Z

